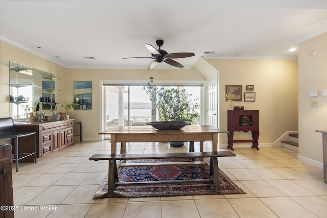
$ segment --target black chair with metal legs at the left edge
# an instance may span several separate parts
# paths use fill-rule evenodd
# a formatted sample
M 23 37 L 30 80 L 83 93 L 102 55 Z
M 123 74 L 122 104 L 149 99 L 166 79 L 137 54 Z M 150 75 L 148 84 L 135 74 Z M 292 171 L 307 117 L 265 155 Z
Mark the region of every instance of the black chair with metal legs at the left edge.
M 18 138 L 20 137 L 25 137 L 25 136 L 30 136 L 34 134 L 34 151 L 31 153 L 18 153 Z M 14 159 L 16 162 L 16 172 L 18 172 L 18 161 L 22 158 L 26 158 L 31 155 L 35 155 L 34 162 L 37 162 L 37 137 L 36 137 L 36 132 L 17 132 L 14 127 L 14 120 L 11 117 L 6 117 L 6 118 L 0 118 L 0 138 L 10 138 L 11 139 L 11 144 L 13 144 L 13 141 L 15 140 L 15 154 Z M 19 155 L 24 155 L 19 158 Z

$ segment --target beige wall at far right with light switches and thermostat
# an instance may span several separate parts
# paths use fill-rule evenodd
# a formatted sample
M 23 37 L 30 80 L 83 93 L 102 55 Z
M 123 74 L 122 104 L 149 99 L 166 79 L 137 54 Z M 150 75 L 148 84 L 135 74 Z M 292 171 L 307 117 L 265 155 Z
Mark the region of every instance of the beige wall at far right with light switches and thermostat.
M 315 50 L 317 56 L 312 55 Z M 322 134 L 315 130 L 327 130 L 327 99 L 321 96 L 327 89 L 327 33 L 299 44 L 298 60 L 299 159 L 322 163 Z M 309 90 L 316 89 L 319 96 L 310 98 Z M 311 107 L 311 101 L 318 101 L 318 107 Z

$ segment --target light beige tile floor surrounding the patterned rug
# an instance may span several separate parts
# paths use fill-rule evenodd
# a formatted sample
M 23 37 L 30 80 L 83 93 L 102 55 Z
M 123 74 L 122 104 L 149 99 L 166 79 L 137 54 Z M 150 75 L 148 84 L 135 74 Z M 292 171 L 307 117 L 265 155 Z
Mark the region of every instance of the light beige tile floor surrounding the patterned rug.
M 129 153 L 188 149 L 188 144 L 127 144 Z M 13 166 L 15 217 L 327 217 L 322 169 L 298 161 L 288 149 L 236 148 L 236 157 L 219 158 L 223 172 L 246 191 L 243 195 L 93 200 L 108 171 L 108 163 L 88 160 L 97 153 L 110 153 L 109 141 L 77 142 L 38 163 L 20 163 L 18 173 Z

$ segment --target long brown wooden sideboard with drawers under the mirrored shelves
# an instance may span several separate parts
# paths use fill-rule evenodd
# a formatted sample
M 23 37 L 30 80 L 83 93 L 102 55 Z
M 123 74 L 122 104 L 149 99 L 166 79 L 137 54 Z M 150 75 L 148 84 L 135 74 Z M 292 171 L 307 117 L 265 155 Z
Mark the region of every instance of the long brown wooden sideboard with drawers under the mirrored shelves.
M 50 122 L 30 122 L 17 123 L 17 131 L 36 131 L 37 132 L 37 157 L 46 157 L 54 152 L 61 151 L 74 143 L 74 119 L 58 120 Z M 20 138 L 19 138 L 20 140 Z M 29 138 L 22 138 L 27 147 L 33 146 L 33 141 Z

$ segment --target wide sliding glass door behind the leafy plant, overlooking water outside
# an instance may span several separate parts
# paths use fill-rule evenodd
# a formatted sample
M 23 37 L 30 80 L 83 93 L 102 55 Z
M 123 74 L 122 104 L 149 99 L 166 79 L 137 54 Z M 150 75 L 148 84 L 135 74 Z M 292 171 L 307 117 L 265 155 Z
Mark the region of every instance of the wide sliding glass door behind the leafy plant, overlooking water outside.
M 154 103 L 143 90 L 144 85 L 104 85 L 105 130 L 111 126 L 145 126 L 146 122 L 156 121 Z M 166 87 L 166 85 L 165 85 Z M 168 86 L 167 86 L 168 87 Z M 172 87 L 172 86 L 171 86 Z M 202 86 L 174 86 L 184 88 L 201 107 Z M 200 116 L 194 120 L 201 124 Z

